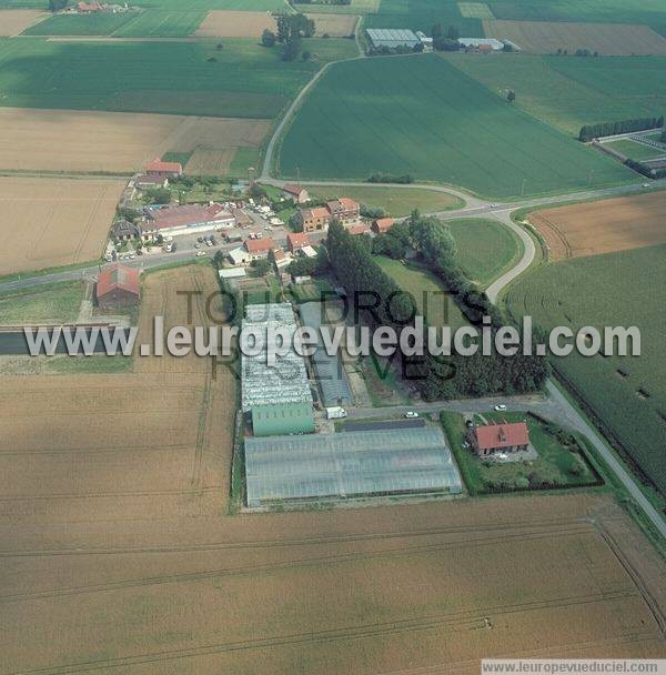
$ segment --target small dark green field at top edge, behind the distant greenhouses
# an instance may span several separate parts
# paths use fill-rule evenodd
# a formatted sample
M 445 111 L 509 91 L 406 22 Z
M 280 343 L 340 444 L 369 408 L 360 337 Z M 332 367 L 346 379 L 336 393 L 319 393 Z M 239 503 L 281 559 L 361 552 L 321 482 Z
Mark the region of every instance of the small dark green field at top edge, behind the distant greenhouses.
M 375 14 L 367 14 L 364 28 L 410 28 L 430 34 L 435 23 L 446 30 L 455 26 L 461 36 L 483 37 L 481 19 L 463 18 L 453 0 L 382 0 Z

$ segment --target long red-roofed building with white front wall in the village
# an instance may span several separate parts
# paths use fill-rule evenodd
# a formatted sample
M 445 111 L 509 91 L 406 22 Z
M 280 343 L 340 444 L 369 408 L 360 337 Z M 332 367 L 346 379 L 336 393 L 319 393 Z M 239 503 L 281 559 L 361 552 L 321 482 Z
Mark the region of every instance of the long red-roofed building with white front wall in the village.
M 234 216 L 221 204 L 183 204 L 147 211 L 141 228 L 143 239 L 155 239 L 158 234 L 185 234 L 212 229 L 229 229 L 235 224 Z

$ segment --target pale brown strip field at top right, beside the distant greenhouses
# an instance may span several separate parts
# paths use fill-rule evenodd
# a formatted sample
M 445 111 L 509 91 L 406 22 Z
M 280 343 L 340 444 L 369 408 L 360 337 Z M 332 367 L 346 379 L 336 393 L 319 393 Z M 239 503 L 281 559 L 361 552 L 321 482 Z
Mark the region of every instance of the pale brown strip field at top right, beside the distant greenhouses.
M 541 54 L 552 54 L 558 49 L 566 49 L 569 53 L 588 49 L 605 57 L 666 54 L 666 38 L 647 26 L 486 19 L 483 29 L 490 38 L 511 40 L 523 51 Z

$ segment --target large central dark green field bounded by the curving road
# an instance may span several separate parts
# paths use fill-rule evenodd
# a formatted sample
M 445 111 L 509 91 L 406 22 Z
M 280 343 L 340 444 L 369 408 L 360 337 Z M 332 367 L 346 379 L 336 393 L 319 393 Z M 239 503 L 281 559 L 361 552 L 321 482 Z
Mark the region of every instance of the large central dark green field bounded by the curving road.
M 491 197 L 636 180 L 434 54 L 339 63 L 307 97 L 280 171 L 310 179 L 412 173 Z

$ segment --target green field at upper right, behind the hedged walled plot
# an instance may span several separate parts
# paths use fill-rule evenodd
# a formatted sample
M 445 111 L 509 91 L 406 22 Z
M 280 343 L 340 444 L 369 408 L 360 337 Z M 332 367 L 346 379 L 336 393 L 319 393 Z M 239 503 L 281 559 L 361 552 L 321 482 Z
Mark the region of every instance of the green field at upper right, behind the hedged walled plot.
M 572 137 L 583 124 L 658 117 L 666 110 L 664 58 L 451 54 L 446 60 L 500 97 L 513 89 L 515 105 Z M 606 68 L 614 73 L 610 79 Z

